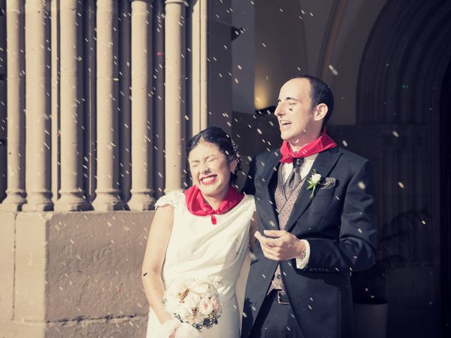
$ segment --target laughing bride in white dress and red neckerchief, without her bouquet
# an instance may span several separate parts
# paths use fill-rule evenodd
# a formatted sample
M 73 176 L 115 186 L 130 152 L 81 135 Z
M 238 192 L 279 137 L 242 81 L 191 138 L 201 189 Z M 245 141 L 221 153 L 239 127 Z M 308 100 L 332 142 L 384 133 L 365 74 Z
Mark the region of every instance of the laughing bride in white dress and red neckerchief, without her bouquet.
M 247 252 L 249 238 L 254 238 L 249 232 L 257 229 L 254 197 L 232 185 L 239 158 L 221 128 L 209 127 L 192 137 L 187 158 L 193 185 L 156 201 L 144 254 L 142 283 L 151 305 L 147 338 L 240 337 Z M 168 283 L 193 277 L 220 280 L 218 324 L 200 332 L 173 318 L 163 305 Z

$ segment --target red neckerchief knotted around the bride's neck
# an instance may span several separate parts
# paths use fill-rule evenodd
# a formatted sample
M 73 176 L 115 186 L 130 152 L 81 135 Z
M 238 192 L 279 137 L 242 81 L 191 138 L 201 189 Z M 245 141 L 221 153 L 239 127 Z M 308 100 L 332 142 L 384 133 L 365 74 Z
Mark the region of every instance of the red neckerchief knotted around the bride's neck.
M 193 185 L 185 191 L 185 200 L 188 211 L 190 211 L 193 215 L 198 216 L 210 215 L 211 223 L 213 224 L 218 223 L 214 215 L 226 213 L 231 208 L 239 204 L 244 197 L 244 194 L 237 192 L 237 190 L 230 185 L 226 197 L 224 197 L 221 204 L 219 204 L 219 208 L 214 210 L 208 203 L 206 203 L 204 196 L 202 196 L 202 193 L 197 186 Z

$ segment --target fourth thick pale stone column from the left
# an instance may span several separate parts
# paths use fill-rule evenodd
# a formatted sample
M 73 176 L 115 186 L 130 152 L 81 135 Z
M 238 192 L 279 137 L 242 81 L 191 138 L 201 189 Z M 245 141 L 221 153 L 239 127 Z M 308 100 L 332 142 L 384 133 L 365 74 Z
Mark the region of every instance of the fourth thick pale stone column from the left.
M 95 210 L 123 208 L 118 189 L 118 1 L 97 1 L 97 189 Z

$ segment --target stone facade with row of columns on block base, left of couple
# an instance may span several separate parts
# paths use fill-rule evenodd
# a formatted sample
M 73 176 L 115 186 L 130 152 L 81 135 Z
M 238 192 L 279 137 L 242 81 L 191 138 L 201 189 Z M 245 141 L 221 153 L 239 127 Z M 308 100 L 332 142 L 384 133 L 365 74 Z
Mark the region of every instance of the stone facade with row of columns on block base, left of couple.
M 154 201 L 187 138 L 231 130 L 228 8 L 0 1 L 0 337 L 145 336 Z

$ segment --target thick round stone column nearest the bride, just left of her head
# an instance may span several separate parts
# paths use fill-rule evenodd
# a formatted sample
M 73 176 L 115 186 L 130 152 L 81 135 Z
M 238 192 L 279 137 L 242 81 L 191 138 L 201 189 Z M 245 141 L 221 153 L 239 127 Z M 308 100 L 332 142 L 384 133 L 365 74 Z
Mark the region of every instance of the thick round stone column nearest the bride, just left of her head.
M 165 192 L 185 189 L 185 12 L 187 2 L 166 0 Z

